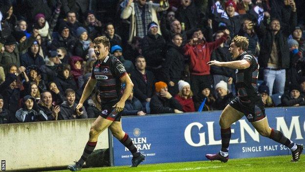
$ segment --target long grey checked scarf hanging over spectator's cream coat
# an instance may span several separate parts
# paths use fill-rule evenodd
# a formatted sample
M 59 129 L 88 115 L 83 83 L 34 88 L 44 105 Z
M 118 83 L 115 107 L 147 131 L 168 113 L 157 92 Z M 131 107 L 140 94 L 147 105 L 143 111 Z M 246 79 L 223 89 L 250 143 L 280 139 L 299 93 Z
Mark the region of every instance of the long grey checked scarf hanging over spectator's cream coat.
M 140 38 L 143 38 L 145 35 L 147 35 L 147 25 L 152 22 L 152 16 L 149 12 L 149 6 L 148 4 L 144 5 L 144 20 L 142 20 L 143 14 L 142 10 L 140 9 L 138 3 L 134 3 L 134 12 L 135 12 L 135 23 L 136 23 L 136 29 L 137 29 L 137 36 Z

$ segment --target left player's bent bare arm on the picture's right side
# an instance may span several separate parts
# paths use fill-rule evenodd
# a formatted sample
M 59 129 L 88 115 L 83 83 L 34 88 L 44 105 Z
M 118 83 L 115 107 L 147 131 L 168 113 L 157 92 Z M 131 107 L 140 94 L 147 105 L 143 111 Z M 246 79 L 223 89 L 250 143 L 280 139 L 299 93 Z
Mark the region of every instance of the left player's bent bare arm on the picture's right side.
M 115 107 L 117 112 L 121 112 L 124 109 L 125 106 L 125 101 L 127 98 L 129 98 L 132 88 L 133 88 L 133 83 L 131 81 L 131 78 L 129 77 L 128 74 L 125 74 L 123 77 L 121 77 L 121 82 L 125 83 L 125 90 L 123 92 L 123 96 L 120 99 L 119 102 L 117 102 L 113 107 Z

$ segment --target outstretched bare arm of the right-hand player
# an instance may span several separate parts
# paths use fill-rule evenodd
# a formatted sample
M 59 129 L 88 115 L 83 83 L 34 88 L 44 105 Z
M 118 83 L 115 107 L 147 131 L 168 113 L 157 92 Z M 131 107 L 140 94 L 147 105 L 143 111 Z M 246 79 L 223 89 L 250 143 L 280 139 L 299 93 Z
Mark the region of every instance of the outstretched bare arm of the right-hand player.
M 217 60 L 209 61 L 207 63 L 209 66 L 219 66 L 219 67 L 226 67 L 231 69 L 247 69 L 250 67 L 250 62 L 248 60 L 237 60 L 231 62 L 219 62 Z

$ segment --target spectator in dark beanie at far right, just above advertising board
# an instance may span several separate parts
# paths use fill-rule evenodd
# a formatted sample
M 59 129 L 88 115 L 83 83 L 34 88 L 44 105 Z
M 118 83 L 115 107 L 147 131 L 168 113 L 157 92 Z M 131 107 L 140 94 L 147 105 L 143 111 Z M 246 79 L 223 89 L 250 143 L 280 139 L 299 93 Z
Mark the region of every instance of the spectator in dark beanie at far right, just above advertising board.
M 301 94 L 301 88 L 299 85 L 292 85 L 289 92 L 283 94 L 282 106 L 304 106 L 305 96 Z

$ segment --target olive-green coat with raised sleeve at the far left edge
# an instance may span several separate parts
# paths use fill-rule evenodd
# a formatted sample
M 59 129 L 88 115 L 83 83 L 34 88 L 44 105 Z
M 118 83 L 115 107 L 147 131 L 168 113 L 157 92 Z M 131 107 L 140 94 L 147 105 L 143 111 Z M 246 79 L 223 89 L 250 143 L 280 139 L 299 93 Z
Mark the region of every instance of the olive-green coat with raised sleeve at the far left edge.
M 31 47 L 33 42 L 35 41 L 34 35 L 32 35 L 30 38 L 26 39 L 22 43 L 16 45 L 16 48 L 14 49 L 13 52 L 9 53 L 6 50 L 4 50 L 1 58 L 1 64 L 3 66 L 8 66 L 12 63 L 16 64 L 17 67 L 20 67 L 20 57 L 19 53 L 25 49 L 28 49 Z

